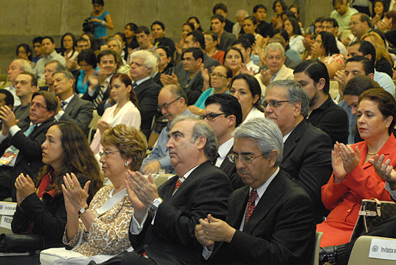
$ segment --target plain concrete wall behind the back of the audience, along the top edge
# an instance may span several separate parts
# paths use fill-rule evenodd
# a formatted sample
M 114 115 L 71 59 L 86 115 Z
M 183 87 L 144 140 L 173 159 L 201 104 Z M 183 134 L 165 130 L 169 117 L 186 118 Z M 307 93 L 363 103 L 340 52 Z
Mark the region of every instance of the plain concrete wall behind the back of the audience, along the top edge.
M 272 1 L 227 0 L 222 1 L 228 7 L 228 19 L 236 22 L 235 12 L 245 9 L 251 12 L 258 3 L 267 7 L 267 22 L 274 15 Z M 166 25 L 166 36 L 179 40 L 181 25 L 191 16 L 200 19 L 204 30 L 210 27 L 212 7 L 218 0 L 105 0 L 105 10 L 110 12 L 115 29 L 108 30 L 109 35 L 124 31 L 124 25 L 134 22 L 149 27 L 154 20 Z M 304 27 L 308 27 L 318 16 L 329 15 L 332 6 L 330 0 L 286 0 L 297 3 Z M 57 47 L 60 37 L 71 32 L 82 34 L 82 22 L 93 10 L 90 0 L 0 0 L 0 68 L 6 73 L 6 67 L 15 59 L 15 49 L 20 43 L 28 43 L 35 36 L 54 36 Z

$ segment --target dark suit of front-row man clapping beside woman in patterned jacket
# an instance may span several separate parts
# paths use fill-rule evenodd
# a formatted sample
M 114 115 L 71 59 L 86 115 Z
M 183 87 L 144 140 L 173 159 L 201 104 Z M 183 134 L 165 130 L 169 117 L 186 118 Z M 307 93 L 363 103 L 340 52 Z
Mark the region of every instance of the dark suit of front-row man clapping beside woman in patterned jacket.
M 209 161 L 194 169 L 172 196 L 177 179 L 174 176 L 159 187 L 163 203 L 154 225 L 150 212 L 142 232 L 135 236 L 130 233 L 129 239 L 135 252 L 146 252 L 156 264 L 203 264 L 203 248 L 196 240 L 195 226 L 209 213 L 226 219 L 231 184 L 226 174 Z

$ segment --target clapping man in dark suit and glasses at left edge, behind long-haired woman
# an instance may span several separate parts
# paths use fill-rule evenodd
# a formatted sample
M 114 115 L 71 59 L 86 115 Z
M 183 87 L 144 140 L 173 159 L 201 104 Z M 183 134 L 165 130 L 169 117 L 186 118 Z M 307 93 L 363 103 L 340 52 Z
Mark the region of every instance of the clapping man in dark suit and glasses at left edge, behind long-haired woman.
M 21 173 L 33 178 L 44 166 L 41 161 L 45 134 L 52 126 L 58 100 L 54 94 L 38 91 L 33 94 L 30 105 L 29 122 L 17 126 L 15 115 L 9 107 L 0 108 L 3 121 L 0 132 L 0 199 L 13 195 L 16 202 L 15 179 Z

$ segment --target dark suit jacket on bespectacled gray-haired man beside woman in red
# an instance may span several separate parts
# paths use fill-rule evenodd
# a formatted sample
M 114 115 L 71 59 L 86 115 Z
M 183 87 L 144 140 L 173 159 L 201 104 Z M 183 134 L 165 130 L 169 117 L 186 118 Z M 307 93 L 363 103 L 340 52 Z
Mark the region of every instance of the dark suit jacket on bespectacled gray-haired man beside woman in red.
M 305 119 L 298 124 L 284 143 L 281 169 L 291 180 L 307 191 L 314 204 L 316 222 L 323 222 L 328 211 L 323 206 L 321 188 L 332 174 L 330 136 Z

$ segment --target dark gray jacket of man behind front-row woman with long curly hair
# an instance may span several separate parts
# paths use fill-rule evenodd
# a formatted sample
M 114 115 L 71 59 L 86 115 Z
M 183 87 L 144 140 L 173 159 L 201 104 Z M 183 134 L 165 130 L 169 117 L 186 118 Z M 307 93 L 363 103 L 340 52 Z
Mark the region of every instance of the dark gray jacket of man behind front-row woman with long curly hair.
M 69 121 L 74 123 L 76 126 L 88 135 L 88 126 L 91 123 L 94 104 L 88 100 L 82 100 L 78 94 L 74 94 L 73 98 L 70 100 L 64 114 L 61 116 L 59 121 Z

